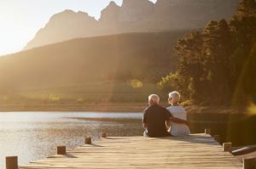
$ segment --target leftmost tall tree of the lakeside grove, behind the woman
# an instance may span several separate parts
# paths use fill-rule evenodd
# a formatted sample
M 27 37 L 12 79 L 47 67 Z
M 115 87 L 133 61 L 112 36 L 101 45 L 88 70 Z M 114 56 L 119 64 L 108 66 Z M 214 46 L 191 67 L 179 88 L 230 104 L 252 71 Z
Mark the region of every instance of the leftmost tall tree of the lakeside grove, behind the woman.
M 175 48 L 178 55 L 182 56 L 178 66 L 177 75 L 183 80 L 180 87 L 183 93 L 194 101 L 205 98 L 204 93 L 199 88 L 205 87 L 203 39 L 200 31 L 190 33 L 177 42 Z M 193 88 L 191 88 L 193 86 Z M 193 94 L 193 91 L 199 93 Z M 190 92 L 190 93 L 189 93 Z

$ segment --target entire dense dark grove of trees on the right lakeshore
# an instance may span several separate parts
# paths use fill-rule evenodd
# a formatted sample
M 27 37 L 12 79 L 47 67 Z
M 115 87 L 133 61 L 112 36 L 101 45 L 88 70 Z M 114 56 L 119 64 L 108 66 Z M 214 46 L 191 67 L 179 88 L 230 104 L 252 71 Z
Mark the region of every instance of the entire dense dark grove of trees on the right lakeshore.
M 158 83 L 181 91 L 195 104 L 246 106 L 256 97 L 256 3 L 243 0 L 230 22 L 209 21 L 177 42 L 177 72 Z M 243 100 L 243 101 L 241 101 Z

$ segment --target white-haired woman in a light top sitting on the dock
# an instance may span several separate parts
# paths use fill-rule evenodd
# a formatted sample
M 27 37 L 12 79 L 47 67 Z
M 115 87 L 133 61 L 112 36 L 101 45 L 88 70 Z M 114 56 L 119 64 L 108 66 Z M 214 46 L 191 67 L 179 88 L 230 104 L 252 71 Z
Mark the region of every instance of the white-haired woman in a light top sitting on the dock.
M 167 110 L 170 111 L 173 117 L 187 121 L 187 112 L 183 106 L 179 105 L 179 101 L 180 94 L 177 91 L 169 93 L 168 102 L 171 106 L 167 107 Z M 190 134 L 188 124 L 177 123 L 174 121 L 171 121 L 169 132 L 171 132 L 172 136 L 185 136 Z

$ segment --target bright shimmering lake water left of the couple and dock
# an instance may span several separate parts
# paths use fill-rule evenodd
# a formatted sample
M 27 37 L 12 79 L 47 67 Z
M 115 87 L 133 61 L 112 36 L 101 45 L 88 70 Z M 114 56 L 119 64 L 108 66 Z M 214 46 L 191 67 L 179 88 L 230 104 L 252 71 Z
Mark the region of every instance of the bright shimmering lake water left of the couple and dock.
M 142 116 L 142 113 L 0 113 L 0 168 L 5 168 L 5 156 L 18 155 L 19 164 L 25 164 L 55 155 L 58 145 L 73 149 L 84 143 L 85 136 L 98 139 L 101 131 L 111 136 L 141 135 Z

